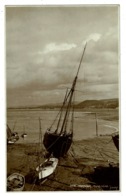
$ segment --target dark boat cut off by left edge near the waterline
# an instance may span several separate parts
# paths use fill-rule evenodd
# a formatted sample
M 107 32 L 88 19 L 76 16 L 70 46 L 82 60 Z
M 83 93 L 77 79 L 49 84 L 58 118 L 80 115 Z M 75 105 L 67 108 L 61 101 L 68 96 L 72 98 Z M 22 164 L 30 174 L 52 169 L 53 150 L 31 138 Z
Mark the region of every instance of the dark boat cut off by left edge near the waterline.
M 19 140 L 18 133 L 12 132 L 7 125 L 7 144 L 14 144 L 17 140 Z

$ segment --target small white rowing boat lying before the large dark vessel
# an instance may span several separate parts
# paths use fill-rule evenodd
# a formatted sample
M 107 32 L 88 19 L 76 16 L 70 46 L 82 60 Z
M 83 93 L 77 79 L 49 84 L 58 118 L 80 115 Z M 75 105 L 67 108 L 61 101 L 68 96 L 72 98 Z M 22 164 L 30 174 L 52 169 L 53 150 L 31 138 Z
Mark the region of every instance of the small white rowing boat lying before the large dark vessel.
M 58 159 L 57 158 L 49 158 L 46 159 L 44 163 L 40 164 L 36 171 L 38 172 L 38 178 L 39 180 L 43 180 L 54 173 L 56 167 L 58 165 Z

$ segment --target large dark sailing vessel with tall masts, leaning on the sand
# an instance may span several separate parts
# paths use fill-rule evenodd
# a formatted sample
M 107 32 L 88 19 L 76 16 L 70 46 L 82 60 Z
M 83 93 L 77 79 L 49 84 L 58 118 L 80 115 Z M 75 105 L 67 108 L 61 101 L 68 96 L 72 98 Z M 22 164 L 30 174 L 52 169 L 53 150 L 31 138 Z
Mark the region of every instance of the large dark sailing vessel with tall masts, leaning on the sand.
M 77 74 L 74 78 L 70 90 L 67 90 L 62 107 L 50 128 L 45 132 L 43 144 L 46 150 L 55 156 L 64 156 L 72 143 L 73 139 L 73 119 L 74 119 L 74 93 L 80 66 L 85 53 L 84 47 Z M 56 125 L 54 126 L 56 122 Z

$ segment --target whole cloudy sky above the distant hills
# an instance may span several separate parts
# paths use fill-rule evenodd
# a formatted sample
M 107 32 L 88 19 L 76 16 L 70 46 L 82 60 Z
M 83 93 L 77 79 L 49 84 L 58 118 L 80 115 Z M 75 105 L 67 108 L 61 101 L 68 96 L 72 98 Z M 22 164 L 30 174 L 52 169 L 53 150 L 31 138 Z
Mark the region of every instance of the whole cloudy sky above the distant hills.
M 76 101 L 119 97 L 119 7 L 6 6 L 7 106 L 61 103 L 87 47 Z

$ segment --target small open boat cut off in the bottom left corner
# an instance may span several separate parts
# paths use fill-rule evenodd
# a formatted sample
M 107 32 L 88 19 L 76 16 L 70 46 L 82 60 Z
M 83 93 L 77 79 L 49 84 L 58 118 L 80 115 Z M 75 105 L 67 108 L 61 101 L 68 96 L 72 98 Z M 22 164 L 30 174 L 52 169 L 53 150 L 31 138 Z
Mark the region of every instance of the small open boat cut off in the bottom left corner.
M 23 191 L 25 177 L 19 173 L 13 173 L 7 178 L 7 191 Z

